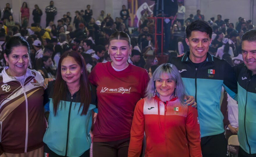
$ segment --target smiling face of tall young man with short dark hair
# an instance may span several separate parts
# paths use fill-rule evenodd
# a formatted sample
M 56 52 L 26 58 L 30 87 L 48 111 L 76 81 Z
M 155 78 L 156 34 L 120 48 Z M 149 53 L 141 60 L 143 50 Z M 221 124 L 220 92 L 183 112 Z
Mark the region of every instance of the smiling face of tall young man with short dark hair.
M 206 59 L 211 40 L 209 34 L 200 31 L 192 31 L 189 39 L 186 38 L 190 50 L 189 58 L 193 63 L 201 63 Z

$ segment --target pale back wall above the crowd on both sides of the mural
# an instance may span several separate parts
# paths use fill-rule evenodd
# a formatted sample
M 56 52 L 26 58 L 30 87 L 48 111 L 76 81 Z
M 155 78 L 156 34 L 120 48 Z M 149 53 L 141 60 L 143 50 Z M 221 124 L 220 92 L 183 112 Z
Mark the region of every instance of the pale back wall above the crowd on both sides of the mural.
M 19 10 L 23 1 L 24 0 L 0 0 L 0 9 L 2 10 L 6 3 L 10 3 L 10 6 L 13 8 L 14 20 L 19 21 Z M 45 27 L 45 7 L 49 5 L 50 0 L 25 1 L 28 3 L 31 13 L 29 25 L 33 22 L 32 11 L 34 5 L 38 4 L 39 8 L 43 11 L 41 25 Z M 217 14 L 221 14 L 223 19 L 230 19 L 232 23 L 236 23 L 240 16 L 249 20 L 252 19 L 252 1 L 253 0 L 184 0 L 186 7 L 185 17 L 189 17 L 189 14 L 195 14 L 196 10 L 200 9 L 201 13 L 205 15 L 205 20 L 209 20 L 211 17 L 217 18 Z M 67 11 L 71 12 L 73 20 L 75 16 L 74 12 L 76 10 L 80 11 L 81 9 L 86 9 L 88 4 L 91 5 L 93 17 L 96 20 L 101 10 L 105 10 L 105 13 L 111 13 L 114 19 L 115 17 L 120 17 L 122 5 L 127 6 L 127 0 L 54 0 L 54 5 L 58 9 L 58 14 L 55 16 L 55 23 L 57 23 L 57 20 L 61 19 L 63 14 L 66 14 Z M 254 24 L 256 25 L 255 20 Z

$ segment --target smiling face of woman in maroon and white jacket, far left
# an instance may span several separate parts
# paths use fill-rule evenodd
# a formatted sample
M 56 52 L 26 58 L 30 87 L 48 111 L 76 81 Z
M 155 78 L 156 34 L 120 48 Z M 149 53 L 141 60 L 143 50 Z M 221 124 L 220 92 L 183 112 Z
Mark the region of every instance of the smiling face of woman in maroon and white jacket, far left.
M 4 54 L 6 62 L 8 62 L 8 72 L 11 76 L 23 76 L 29 66 L 29 52 L 25 46 L 13 48 L 7 57 Z

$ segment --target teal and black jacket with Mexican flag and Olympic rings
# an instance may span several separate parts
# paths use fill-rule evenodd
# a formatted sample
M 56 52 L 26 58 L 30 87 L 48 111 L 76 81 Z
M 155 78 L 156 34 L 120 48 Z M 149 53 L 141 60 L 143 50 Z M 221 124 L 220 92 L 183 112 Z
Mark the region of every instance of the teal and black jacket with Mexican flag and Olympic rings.
M 174 64 L 186 88 L 186 94 L 195 97 L 198 109 L 201 137 L 224 132 L 223 114 L 220 110 L 222 86 L 237 100 L 237 82 L 229 63 L 207 52 L 207 58 L 197 67 L 189 59 L 190 52 L 183 57 L 173 57 Z

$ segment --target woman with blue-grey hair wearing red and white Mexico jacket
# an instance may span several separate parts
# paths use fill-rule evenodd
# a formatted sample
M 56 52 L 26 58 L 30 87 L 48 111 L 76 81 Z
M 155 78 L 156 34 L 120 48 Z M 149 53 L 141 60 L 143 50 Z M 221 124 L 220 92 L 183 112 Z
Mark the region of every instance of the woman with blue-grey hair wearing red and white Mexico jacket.
M 178 69 L 170 63 L 160 65 L 146 97 L 136 104 L 128 157 L 140 155 L 144 131 L 147 157 L 202 157 L 197 110 L 185 105 L 184 96 Z

